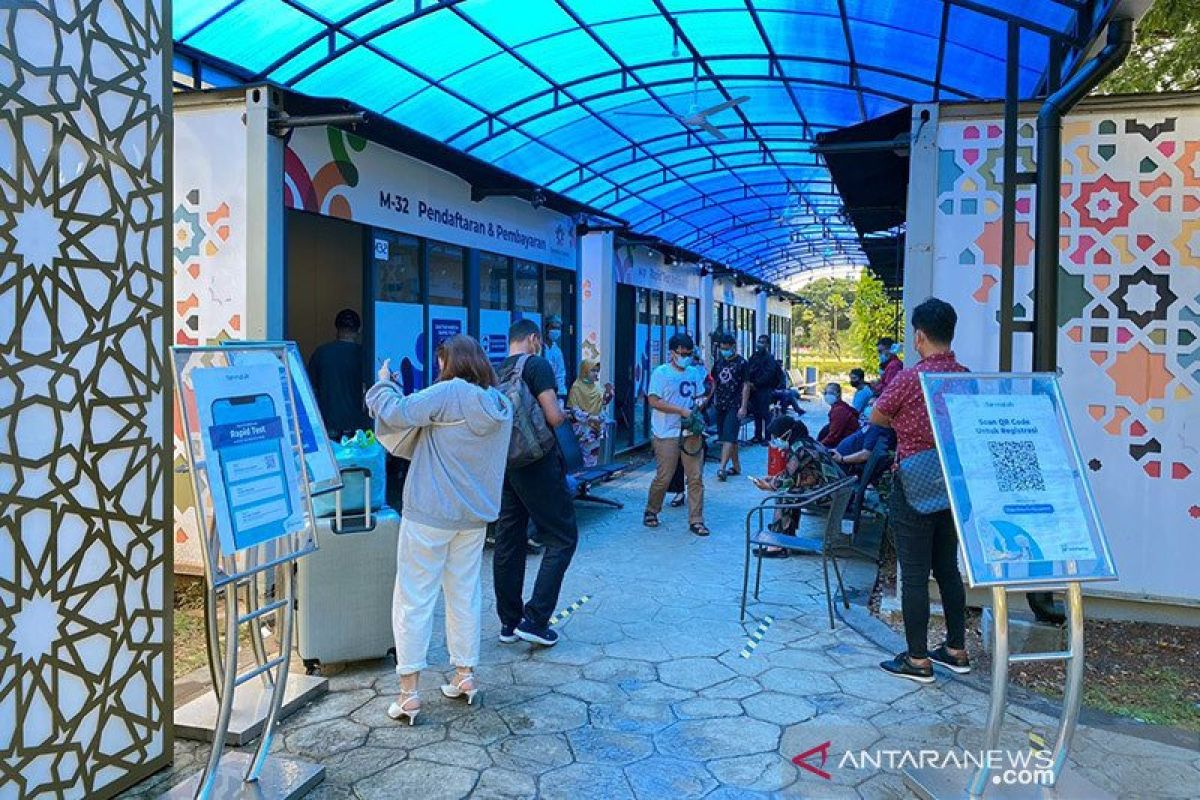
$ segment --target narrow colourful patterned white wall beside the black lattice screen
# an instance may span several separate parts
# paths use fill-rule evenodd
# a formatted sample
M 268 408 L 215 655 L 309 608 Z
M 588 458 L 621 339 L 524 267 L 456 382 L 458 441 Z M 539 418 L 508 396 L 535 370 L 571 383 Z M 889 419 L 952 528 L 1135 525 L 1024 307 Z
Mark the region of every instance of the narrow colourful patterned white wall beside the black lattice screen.
M 245 110 L 244 102 L 175 109 L 175 344 L 220 344 L 246 337 Z M 175 571 L 202 575 L 192 480 L 180 471 L 187 456 L 178 413 L 174 420 Z

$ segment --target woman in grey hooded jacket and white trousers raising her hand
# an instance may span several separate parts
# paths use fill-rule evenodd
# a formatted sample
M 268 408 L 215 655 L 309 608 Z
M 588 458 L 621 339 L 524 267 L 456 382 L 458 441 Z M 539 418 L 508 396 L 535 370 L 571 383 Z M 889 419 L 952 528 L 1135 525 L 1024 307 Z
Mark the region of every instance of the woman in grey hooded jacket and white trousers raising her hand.
M 420 428 L 404 479 L 392 630 L 400 697 L 388 715 L 416 721 L 438 587 L 445 593 L 446 648 L 455 675 L 446 697 L 474 702 L 479 686 L 480 564 L 487 523 L 500 512 L 512 407 L 479 343 L 455 336 L 438 345 L 438 380 L 404 397 L 389 363 L 367 391 L 371 415 L 391 432 Z

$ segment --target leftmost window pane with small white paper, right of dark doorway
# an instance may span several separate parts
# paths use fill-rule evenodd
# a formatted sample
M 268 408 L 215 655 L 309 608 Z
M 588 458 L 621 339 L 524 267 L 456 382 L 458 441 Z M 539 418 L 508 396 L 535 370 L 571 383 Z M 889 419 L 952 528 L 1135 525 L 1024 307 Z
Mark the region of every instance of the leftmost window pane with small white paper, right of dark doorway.
M 391 369 L 400 374 L 406 393 L 413 392 L 425 385 L 427 359 L 421 349 L 425 330 L 421 241 L 376 229 L 372 231 L 372 254 L 374 367 L 390 359 Z

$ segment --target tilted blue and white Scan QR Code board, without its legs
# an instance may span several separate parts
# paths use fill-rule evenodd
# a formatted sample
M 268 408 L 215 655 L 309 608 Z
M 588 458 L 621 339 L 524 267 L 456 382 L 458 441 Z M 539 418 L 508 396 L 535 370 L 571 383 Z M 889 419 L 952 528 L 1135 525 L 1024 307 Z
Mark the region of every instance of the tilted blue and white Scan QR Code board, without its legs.
M 1057 377 L 920 381 L 971 585 L 1115 581 Z

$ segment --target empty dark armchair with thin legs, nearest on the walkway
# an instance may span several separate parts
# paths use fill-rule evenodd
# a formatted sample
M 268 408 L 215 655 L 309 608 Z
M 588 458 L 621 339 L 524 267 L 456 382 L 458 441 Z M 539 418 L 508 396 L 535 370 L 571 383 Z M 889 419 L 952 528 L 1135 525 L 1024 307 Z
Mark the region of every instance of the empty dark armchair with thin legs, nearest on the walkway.
M 746 616 L 746 594 L 750 589 L 750 557 L 751 547 L 781 547 L 790 552 L 799 552 L 808 555 L 821 557 L 821 571 L 824 575 L 826 604 L 829 608 L 829 630 L 835 627 L 833 614 L 833 593 L 829 587 L 829 565 L 833 564 L 834 576 L 838 578 L 838 591 L 841 594 L 842 604 L 850 609 L 850 601 L 846 599 L 846 587 L 841 582 L 841 569 L 838 566 L 838 557 L 833 551 L 832 539 L 841 533 L 841 518 L 846 513 L 846 506 L 854 493 L 854 485 L 858 479 L 854 476 L 844 477 L 818 489 L 803 493 L 770 494 L 762 503 L 746 512 L 746 543 L 745 564 L 742 570 L 742 615 Z M 791 536 L 776 534 L 767 528 L 764 516 L 769 511 L 774 516 L 775 511 L 792 510 L 799 513 L 806 507 L 822 500 L 829 501 L 829 511 L 826 515 L 824 527 L 821 537 Z M 757 518 L 757 525 L 754 524 Z M 758 600 L 758 590 L 762 585 L 762 551 L 755 554 L 758 565 L 754 579 L 754 599 Z

